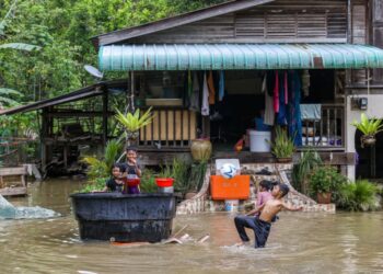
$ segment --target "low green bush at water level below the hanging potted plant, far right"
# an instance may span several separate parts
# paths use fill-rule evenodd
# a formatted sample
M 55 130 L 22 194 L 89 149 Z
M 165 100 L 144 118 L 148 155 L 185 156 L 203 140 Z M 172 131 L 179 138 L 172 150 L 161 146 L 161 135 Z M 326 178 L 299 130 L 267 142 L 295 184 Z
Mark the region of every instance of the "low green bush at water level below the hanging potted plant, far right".
M 351 212 L 375 210 L 379 206 L 378 187 L 368 180 L 344 184 L 336 198 L 337 206 Z

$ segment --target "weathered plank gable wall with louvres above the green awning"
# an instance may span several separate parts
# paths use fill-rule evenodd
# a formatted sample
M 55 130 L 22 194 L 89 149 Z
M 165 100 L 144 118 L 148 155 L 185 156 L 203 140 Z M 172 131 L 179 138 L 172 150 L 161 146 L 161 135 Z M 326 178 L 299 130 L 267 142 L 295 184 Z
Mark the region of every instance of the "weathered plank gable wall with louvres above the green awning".
M 346 43 L 346 0 L 277 0 L 131 43 Z

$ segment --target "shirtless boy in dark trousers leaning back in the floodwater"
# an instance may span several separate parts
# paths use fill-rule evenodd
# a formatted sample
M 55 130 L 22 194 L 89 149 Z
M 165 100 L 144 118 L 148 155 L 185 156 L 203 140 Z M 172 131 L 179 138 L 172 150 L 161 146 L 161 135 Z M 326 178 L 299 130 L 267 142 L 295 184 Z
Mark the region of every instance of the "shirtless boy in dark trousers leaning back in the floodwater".
M 249 241 L 245 227 L 254 230 L 255 248 L 264 248 L 267 237 L 270 232 L 271 221 L 274 217 L 283 208 L 290 212 L 302 210 L 303 207 L 291 207 L 283 203 L 282 198 L 289 193 L 289 186 L 286 184 L 277 184 L 274 186 L 271 195 L 272 199 L 267 201 L 259 207 L 259 217 L 236 216 L 234 219 L 236 231 L 242 240 L 237 246 L 243 246 Z

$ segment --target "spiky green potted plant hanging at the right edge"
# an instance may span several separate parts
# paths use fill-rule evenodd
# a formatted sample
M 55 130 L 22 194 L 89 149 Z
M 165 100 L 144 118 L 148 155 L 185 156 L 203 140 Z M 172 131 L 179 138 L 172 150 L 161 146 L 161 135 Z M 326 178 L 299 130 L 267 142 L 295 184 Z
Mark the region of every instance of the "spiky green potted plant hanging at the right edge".
M 353 121 L 351 123 L 363 135 L 360 138 L 361 147 L 372 146 L 375 144 L 375 135 L 383 130 L 382 119 L 369 118 L 364 113 L 360 115 L 360 122 Z

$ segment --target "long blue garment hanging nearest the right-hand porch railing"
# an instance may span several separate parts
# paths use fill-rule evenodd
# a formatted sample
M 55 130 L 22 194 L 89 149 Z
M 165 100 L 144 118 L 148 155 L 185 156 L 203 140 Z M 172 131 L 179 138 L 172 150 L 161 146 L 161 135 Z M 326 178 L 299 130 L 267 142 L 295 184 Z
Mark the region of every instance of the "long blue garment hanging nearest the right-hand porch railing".
M 290 103 L 288 111 L 289 134 L 294 138 L 295 146 L 302 146 L 302 118 L 301 118 L 301 80 L 297 71 L 290 72 Z

